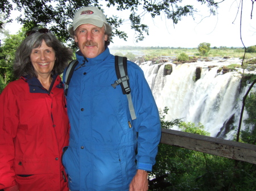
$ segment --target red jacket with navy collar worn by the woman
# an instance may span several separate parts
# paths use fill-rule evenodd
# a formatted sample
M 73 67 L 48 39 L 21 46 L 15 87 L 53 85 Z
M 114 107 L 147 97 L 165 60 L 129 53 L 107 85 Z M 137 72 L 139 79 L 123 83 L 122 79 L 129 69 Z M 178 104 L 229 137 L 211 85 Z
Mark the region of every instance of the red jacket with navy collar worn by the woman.
M 57 76 L 51 85 L 47 91 L 38 79 L 22 77 L 0 95 L 0 189 L 68 190 L 61 164 L 69 139 L 63 83 Z

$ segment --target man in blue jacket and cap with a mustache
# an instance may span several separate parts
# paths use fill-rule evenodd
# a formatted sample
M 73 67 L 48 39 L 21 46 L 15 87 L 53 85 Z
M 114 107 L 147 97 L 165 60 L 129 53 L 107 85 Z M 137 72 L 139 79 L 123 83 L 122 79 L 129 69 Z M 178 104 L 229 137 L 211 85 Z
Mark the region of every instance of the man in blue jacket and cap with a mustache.
M 147 190 L 160 141 L 160 120 L 143 72 L 128 61 L 132 120 L 108 45 L 112 28 L 97 7 L 82 7 L 69 33 L 79 46 L 79 64 L 69 83 L 69 146 L 63 164 L 70 190 Z M 65 72 L 64 77 L 65 79 Z

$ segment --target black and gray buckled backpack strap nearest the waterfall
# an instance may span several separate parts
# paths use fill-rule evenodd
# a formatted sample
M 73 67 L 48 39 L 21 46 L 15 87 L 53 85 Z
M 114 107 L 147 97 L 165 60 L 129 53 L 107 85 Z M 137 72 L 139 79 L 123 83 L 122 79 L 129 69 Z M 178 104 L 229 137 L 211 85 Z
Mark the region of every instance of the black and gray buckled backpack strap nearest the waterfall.
M 121 84 L 123 94 L 126 94 L 129 104 L 129 110 L 131 114 L 132 120 L 135 120 L 136 114 L 133 107 L 133 101 L 131 100 L 131 89 L 129 84 L 129 77 L 127 74 L 127 58 L 115 56 L 115 73 L 117 75 L 117 79 L 111 86 L 114 88 Z

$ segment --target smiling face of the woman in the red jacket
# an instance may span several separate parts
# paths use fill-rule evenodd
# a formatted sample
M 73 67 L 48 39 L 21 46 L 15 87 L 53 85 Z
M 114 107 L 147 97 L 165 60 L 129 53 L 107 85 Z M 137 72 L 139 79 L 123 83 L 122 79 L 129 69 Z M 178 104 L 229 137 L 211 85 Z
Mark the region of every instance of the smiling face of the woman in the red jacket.
M 56 60 L 55 51 L 52 47 L 47 46 L 46 42 L 43 40 L 40 47 L 32 49 L 30 60 L 35 69 L 35 73 L 40 77 L 47 77 L 47 75 L 51 75 Z

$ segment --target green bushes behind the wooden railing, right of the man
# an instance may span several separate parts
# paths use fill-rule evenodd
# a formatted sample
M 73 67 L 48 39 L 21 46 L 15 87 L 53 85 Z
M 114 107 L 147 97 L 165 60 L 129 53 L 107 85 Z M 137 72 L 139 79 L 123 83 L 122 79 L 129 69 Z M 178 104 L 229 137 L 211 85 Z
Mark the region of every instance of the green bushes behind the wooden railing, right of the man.
M 168 108 L 160 111 L 162 128 L 179 126 L 183 131 L 209 135 L 202 124 L 182 122 L 181 119 L 166 121 Z M 250 163 L 204 154 L 160 143 L 156 164 L 150 173 L 149 190 L 256 190 L 256 167 Z

